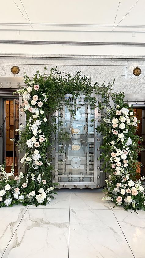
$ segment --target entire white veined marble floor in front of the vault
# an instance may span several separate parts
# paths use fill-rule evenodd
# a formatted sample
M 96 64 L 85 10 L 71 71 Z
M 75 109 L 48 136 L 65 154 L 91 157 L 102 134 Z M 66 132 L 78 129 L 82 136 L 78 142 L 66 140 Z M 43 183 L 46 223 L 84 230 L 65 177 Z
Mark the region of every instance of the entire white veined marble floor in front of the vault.
M 145 211 L 102 201 L 100 189 L 60 189 L 47 206 L 0 209 L 2 258 L 145 258 Z

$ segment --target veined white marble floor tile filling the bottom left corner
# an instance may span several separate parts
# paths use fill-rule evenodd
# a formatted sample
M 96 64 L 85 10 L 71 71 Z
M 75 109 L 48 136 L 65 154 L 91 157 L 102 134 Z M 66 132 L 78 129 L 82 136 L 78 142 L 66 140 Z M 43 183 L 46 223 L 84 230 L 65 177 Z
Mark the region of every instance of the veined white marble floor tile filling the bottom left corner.
M 26 209 L 0 209 L 0 257 L 19 225 Z

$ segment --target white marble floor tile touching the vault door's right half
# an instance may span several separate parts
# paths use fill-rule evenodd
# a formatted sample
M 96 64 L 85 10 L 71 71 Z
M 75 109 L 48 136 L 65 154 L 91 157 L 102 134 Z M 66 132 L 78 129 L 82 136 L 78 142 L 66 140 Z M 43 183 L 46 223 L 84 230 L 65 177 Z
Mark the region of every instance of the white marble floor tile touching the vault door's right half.
M 111 209 L 108 201 L 103 201 L 104 193 L 100 189 L 74 189 L 70 194 L 71 209 Z

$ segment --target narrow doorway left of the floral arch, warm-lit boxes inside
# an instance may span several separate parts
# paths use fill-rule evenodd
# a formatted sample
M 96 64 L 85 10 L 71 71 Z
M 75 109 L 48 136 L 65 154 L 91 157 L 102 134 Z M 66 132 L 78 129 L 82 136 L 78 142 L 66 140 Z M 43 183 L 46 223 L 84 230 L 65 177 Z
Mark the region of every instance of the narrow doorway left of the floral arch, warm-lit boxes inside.
M 18 146 L 16 141 L 19 134 L 19 100 L 3 99 L 3 161 L 6 163 L 6 172 L 14 167 L 15 175 L 18 175 Z

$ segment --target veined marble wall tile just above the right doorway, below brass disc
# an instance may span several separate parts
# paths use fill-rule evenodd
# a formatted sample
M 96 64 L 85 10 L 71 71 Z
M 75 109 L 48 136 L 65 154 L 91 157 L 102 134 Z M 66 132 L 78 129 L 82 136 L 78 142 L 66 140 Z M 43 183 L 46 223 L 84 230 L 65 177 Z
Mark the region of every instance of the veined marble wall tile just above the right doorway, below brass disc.
M 120 92 L 130 94 L 145 93 L 145 83 L 114 83 L 112 92 Z

